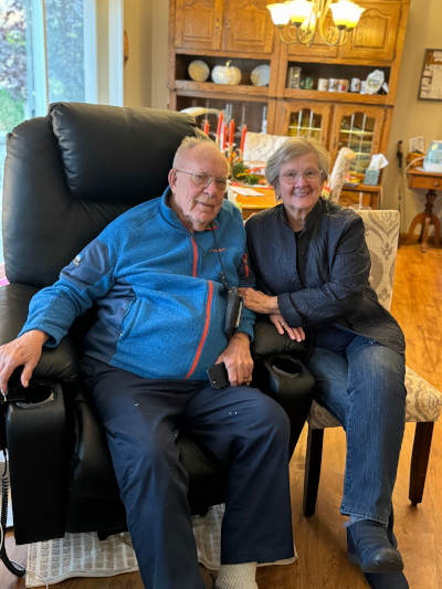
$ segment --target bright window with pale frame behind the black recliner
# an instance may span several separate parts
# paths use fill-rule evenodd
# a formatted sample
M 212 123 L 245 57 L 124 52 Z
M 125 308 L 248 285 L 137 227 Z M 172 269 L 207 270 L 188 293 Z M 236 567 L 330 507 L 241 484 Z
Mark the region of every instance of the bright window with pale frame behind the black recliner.
M 123 1 L 0 0 L 0 227 L 7 133 L 54 102 L 123 105 Z

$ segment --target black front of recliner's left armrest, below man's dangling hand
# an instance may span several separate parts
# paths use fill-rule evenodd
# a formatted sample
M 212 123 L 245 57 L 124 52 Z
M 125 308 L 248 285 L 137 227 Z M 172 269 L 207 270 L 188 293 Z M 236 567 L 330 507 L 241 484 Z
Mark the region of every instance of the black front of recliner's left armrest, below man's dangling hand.
M 62 538 L 65 530 L 67 427 L 59 383 L 34 382 L 7 410 L 17 544 Z

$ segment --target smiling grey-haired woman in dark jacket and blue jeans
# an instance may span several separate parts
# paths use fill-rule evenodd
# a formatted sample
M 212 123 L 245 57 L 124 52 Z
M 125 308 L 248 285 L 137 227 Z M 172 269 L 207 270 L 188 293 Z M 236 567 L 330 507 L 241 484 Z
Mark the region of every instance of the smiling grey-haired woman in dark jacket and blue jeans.
M 350 559 L 375 589 L 406 589 L 391 504 L 404 429 L 404 339 L 368 282 L 361 218 L 320 197 L 329 159 L 303 137 L 270 158 L 266 178 L 282 204 L 246 223 L 257 291 L 241 294 L 280 334 L 312 336 L 315 398 L 347 434 L 340 512 L 350 517 Z

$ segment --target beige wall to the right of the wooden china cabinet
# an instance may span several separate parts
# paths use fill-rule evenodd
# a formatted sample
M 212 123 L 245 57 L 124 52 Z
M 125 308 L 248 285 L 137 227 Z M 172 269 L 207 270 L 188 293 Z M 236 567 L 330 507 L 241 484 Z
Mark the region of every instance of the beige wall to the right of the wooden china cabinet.
M 403 157 L 410 137 L 423 135 L 425 149 L 431 139 L 442 139 L 442 102 L 419 101 L 419 83 L 425 49 L 442 49 L 441 0 L 411 0 L 394 115 L 388 146 L 390 165 L 383 175 L 383 209 L 398 208 L 398 141 L 403 140 Z M 401 232 L 407 233 L 418 212 L 423 211 L 425 190 L 410 191 L 403 176 Z M 442 192 L 439 192 L 442 196 Z M 434 212 L 442 217 L 442 198 L 436 199 Z M 431 230 L 432 231 L 432 230 Z

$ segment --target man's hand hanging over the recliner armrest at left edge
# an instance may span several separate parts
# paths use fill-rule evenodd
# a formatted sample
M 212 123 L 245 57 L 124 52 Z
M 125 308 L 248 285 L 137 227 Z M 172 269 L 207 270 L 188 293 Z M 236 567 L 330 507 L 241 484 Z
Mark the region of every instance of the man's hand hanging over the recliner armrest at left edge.
M 49 335 L 40 329 L 27 332 L 18 339 L 0 347 L 0 391 L 6 393 L 8 380 L 18 366 L 24 366 L 21 383 L 28 387 L 32 372 L 38 365 L 43 344 Z

